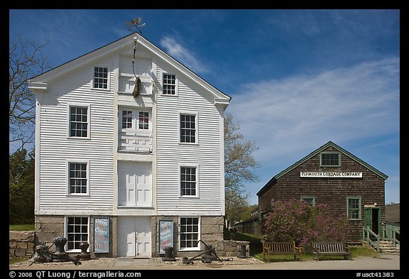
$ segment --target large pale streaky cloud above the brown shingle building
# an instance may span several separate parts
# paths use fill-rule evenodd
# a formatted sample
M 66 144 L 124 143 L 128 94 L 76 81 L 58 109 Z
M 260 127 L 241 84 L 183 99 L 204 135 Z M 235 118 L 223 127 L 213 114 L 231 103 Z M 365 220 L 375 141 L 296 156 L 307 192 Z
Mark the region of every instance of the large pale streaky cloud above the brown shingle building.
M 262 164 L 399 131 L 399 58 L 243 84 L 228 107 Z M 301 154 L 301 155 L 300 155 Z

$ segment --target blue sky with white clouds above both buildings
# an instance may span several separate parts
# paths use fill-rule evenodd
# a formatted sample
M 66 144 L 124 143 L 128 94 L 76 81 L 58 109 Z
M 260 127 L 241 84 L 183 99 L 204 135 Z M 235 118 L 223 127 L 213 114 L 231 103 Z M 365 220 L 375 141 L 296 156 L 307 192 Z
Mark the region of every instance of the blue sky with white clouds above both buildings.
M 232 97 L 227 112 L 255 141 L 260 180 L 328 141 L 388 175 L 400 202 L 400 11 L 393 9 L 9 10 L 9 41 L 43 44 L 53 67 L 142 35 Z

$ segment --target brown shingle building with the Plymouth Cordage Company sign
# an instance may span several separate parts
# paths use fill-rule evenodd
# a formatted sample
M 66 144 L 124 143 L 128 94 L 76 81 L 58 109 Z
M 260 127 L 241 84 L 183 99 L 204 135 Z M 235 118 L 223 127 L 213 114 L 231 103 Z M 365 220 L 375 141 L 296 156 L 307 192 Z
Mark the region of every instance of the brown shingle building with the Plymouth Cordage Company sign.
M 334 216 L 349 220 L 347 242 L 358 244 L 368 226 L 381 234 L 385 221 L 387 175 L 329 141 L 275 175 L 258 191 L 261 220 L 278 200 L 304 199 L 328 204 Z

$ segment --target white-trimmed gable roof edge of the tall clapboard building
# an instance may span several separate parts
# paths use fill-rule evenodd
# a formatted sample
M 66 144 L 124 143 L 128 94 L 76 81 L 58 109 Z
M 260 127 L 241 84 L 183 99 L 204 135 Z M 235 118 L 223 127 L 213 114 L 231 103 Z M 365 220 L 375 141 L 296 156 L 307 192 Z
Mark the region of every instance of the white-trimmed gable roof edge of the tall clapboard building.
M 29 87 L 32 89 L 47 89 L 47 83 L 51 80 L 54 80 L 61 75 L 67 74 L 67 72 L 72 72 L 83 65 L 88 63 L 97 61 L 107 55 L 110 55 L 116 51 L 122 51 L 126 48 L 129 48 L 131 45 L 133 48 L 134 40 L 137 40 L 138 45 L 142 45 L 146 50 L 148 50 L 152 55 L 156 55 L 158 58 L 162 59 L 165 62 L 168 62 L 172 67 L 175 67 L 176 70 L 179 70 L 185 76 L 190 79 L 191 81 L 195 82 L 196 84 L 200 85 L 200 87 L 206 89 L 207 92 L 211 93 L 214 96 L 214 102 L 219 104 L 227 105 L 229 104 L 231 97 L 229 95 L 224 94 L 219 89 L 214 87 L 212 84 L 209 84 L 207 81 L 203 80 L 202 77 L 197 75 L 195 72 L 192 72 L 189 68 L 182 63 L 175 60 L 175 58 L 165 53 L 163 50 L 158 48 L 158 46 L 151 43 L 149 40 L 144 38 L 142 35 L 138 33 L 132 33 L 130 35 L 126 35 L 119 40 L 115 40 L 108 45 L 104 45 L 101 48 L 97 48 L 96 50 L 92 50 L 89 53 L 81 55 L 78 58 L 65 62 L 64 64 L 55 67 L 47 72 L 43 72 L 43 74 L 38 75 L 36 77 L 32 77 L 28 80 Z

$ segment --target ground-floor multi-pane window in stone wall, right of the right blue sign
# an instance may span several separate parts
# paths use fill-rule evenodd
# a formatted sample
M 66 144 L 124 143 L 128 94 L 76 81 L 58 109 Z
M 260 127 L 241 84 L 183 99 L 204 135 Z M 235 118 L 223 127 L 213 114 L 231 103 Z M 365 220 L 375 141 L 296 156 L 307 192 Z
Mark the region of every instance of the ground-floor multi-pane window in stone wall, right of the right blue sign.
M 180 250 L 199 248 L 199 217 L 180 217 Z

